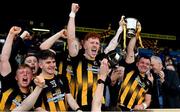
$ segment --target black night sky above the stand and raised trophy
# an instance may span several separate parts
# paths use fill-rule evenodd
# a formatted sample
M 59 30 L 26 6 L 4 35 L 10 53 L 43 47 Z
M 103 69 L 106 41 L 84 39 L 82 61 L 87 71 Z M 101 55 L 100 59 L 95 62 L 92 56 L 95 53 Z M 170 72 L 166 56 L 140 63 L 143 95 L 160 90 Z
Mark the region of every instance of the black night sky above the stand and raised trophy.
M 0 9 L 0 32 L 7 32 L 13 24 L 23 23 L 26 26 L 29 20 L 42 21 L 48 27 L 62 28 L 67 24 L 72 2 L 80 5 L 76 16 L 77 26 L 106 29 L 111 24 L 112 29 L 116 30 L 121 16 L 125 15 L 138 19 L 143 33 L 179 37 L 176 30 L 180 29 L 179 7 L 176 7 L 174 1 L 158 0 L 31 0 L 21 3 L 14 1 L 11 2 L 12 6 L 3 3 L 6 8 Z

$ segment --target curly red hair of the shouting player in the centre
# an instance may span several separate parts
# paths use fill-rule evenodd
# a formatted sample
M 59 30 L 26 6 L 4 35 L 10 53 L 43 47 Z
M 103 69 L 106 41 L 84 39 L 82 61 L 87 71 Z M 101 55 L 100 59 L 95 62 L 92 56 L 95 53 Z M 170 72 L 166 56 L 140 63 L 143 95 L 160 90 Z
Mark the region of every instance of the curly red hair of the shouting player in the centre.
M 83 41 L 85 42 L 85 41 L 88 40 L 89 38 L 93 38 L 93 39 L 98 38 L 99 41 L 100 41 L 100 40 L 101 40 L 101 35 L 98 34 L 98 33 L 95 33 L 95 32 L 89 32 L 89 33 L 87 33 L 87 34 L 85 35 Z

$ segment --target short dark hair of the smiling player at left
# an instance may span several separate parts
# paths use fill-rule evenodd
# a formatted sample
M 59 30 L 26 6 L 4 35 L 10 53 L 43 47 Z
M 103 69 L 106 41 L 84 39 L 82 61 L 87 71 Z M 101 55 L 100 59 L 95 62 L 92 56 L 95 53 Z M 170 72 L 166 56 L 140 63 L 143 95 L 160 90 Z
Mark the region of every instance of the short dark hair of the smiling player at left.
M 38 59 L 42 59 L 45 60 L 49 57 L 55 59 L 56 54 L 52 51 L 52 50 L 40 50 L 39 55 L 38 55 Z

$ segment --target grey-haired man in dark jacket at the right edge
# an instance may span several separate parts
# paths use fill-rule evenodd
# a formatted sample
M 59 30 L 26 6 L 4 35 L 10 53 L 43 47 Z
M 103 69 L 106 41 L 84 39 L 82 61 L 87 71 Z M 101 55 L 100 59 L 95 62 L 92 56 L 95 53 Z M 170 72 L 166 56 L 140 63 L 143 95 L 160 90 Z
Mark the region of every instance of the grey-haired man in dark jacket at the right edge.
M 180 81 L 175 71 L 163 69 L 157 56 L 151 57 L 154 75 L 152 108 L 180 108 Z M 159 87 L 159 88 L 158 88 Z

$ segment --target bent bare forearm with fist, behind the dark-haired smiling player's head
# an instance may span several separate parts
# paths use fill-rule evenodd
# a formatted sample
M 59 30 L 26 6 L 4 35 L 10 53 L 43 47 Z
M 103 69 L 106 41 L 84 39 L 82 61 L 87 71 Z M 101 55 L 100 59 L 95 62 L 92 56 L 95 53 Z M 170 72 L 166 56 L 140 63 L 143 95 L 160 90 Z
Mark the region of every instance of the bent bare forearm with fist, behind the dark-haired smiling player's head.
M 67 38 L 67 30 L 66 29 L 62 29 L 61 31 L 57 32 L 56 34 L 52 35 L 47 40 L 45 40 L 40 45 L 40 49 L 41 50 L 50 49 L 53 46 L 53 44 L 61 37 Z

